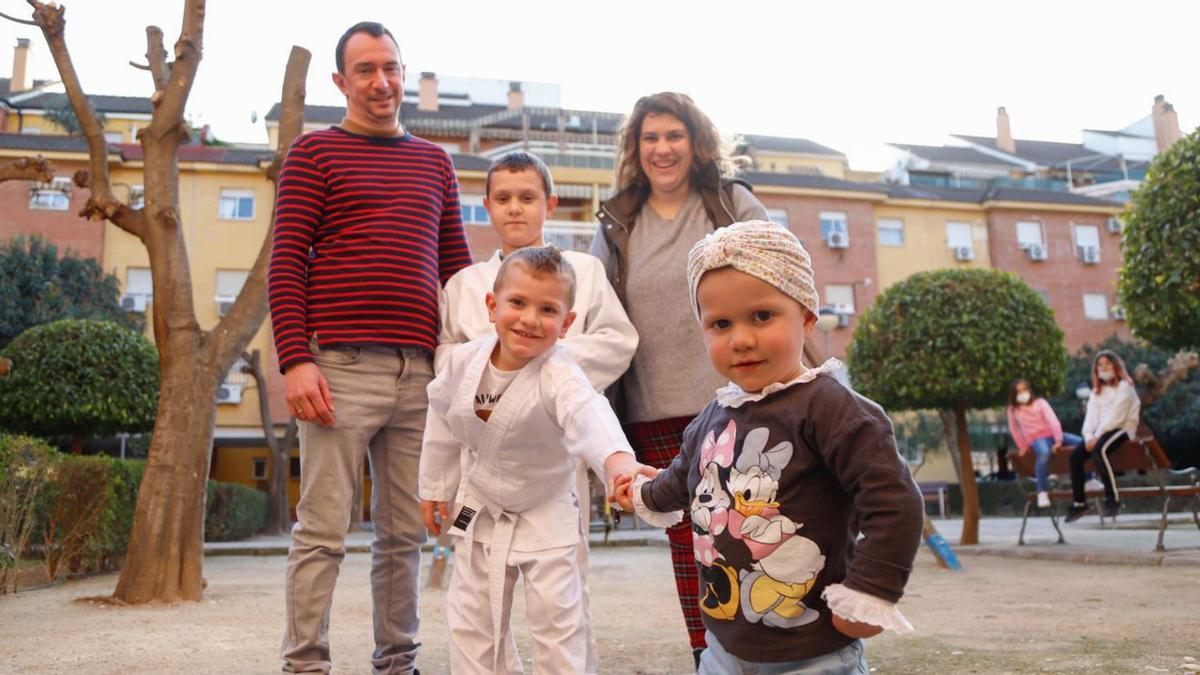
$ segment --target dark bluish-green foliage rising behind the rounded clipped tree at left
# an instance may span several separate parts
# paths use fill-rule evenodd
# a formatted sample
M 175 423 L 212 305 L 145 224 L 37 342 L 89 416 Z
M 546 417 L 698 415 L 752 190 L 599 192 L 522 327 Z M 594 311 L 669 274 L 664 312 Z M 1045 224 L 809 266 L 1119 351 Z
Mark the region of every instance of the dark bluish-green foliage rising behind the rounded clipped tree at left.
M 142 330 L 140 315 L 121 310 L 116 277 L 92 258 L 41 237 L 16 237 L 0 246 L 0 348 L 34 325 L 61 318 L 95 318 Z

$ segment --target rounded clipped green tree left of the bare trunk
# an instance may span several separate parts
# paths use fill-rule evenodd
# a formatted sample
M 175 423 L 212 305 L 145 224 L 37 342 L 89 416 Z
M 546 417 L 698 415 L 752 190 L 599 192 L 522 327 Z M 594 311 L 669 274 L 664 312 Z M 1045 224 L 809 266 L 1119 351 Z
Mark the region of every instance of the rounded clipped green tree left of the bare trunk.
M 149 431 L 158 405 L 158 352 L 142 333 L 108 321 L 36 325 L 0 352 L 0 428 L 83 438 Z

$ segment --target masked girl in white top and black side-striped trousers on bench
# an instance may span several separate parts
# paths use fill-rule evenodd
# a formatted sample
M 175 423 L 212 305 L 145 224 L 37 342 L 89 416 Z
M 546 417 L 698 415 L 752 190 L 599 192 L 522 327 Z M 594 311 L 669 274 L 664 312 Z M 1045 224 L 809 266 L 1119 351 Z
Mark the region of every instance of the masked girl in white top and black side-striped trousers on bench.
M 1087 399 L 1087 413 L 1084 416 L 1084 444 L 1070 453 L 1074 503 L 1067 513 L 1067 522 L 1079 520 L 1087 513 L 1084 462 L 1088 459 L 1094 460 L 1104 483 L 1104 515 L 1116 518 L 1121 510 L 1121 494 L 1109 454 L 1135 437 L 1140 412 L 1141 400 L 1124 362 L 1109 350 L 1098 352 L 1092 360 L 1092 395 Z

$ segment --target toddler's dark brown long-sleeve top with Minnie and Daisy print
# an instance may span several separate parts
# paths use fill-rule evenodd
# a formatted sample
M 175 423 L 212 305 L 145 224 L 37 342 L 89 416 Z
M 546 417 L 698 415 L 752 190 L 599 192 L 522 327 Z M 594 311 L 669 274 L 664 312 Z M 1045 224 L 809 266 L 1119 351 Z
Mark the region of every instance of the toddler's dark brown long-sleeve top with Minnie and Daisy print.
M 739 407 L 710 402 L 641 497 L 689 509 L 704 626 L 755 662 L 851 643 L 821 598 L 829 584 L 899 601 L 924 512 L 882 408 L 827 375 Z

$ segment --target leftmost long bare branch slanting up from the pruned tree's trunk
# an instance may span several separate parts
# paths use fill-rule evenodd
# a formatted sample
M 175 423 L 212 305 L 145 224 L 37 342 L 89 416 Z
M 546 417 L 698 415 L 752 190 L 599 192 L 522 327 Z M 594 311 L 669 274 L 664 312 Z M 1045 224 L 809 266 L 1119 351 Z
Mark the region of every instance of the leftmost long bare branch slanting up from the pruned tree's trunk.
M 108 143 L 104 141 L 104 127 L 96 118 L 96 112 L 91 109 L 91 102 L 83 92 L 79 84 L 79 76 L 76 73 L 74 64 L 71 61 L 71 53 L 67 50 L 64 34 L 66 8 L 54 4 L 29 0 L 34 7 L 34 22 L 42 29 L 46 43 L 50 48 L 54 65 L 59 68 L 62 85 L 66 88 L 67 100 L 71 109 L 74 110 L 79 120 L 79 129 L 88 141 L 88 172 L 86 186 L 91 191 L 88 203 L 84 204 L 79 215 L 91 220 L 109 219 L 114 225 L 125 229 L 130 234 L 144 238 L 145 228 L 138 227 L 136 220 L 127 214 L 113 217 L 124 210 L 130 210 L 113 196 L 113 186 L 108 178 Z

